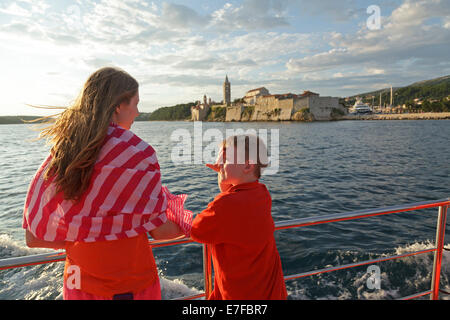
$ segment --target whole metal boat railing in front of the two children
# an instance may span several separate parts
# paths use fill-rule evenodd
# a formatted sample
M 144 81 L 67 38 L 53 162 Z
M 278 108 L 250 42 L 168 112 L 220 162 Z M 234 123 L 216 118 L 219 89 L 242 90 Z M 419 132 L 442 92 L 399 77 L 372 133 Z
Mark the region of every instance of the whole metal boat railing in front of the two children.
M 436 225 L 436 238 L 435 238 L 435 247 L 431 249 L 419 250 L 415 252 L 409 252 L 400 255 L 382 257 L 378 259 L 365 260 L 345 265 L 338 265 L 334 267 L 328 267 L 318 270 L 311 270 L 308 272 L 303 272 L 294 275 L 285 276 L 285 281 L 299 279 L 307 276 L 318 275 L 322 273 L 327 273 L 336 270 L 343 270 L 348 268 L 354 268 L 363 265 L 371 265 L 378 262 L 384 262 L 393 259 L 405 258 L 409 256 L 414 256 L 418 254 L 425 254 L 434 252 L 434 262 L 433 262 L 433 273 L 430 289 L 424 292 L 419 292 L 413 295 L 409 295 L 407 297 L 401 298 L 402 300 L 414 299 L 426 295 L 430 295 L 430 299 L 437 300 L 439 298 L 439 282 L 441 275 L 441 267 L 442 267 L 442 256 L 444 250 L 444 238 L 445 238 L 445 227 L 446 227 L 446 219 L 447 219 L 447 209 L 450 206 L 450 198 L 442 199 L 442 200 L 434 200 L 434 201 L 424 201 L 412 204 L 384 207 L 384 208 L 376 208 L 376 209 L 368 209 L 368 210 L 359 210 L 352 211 L 346 213 L 337 213 L 337 214 L 329 214 L 322 215 L 317 217 L 307 217 L 301 219 L 293 219 L 286 220 L 275 223 L 276 230 L 290 229 L 290 228 L 300 228 L 306 226 L 320 225 L 331 222 L 339 222 L 339 221 L 347 221 L 347 220 L 355 220 L 362 219 L 392 213 L 406 212 L 406 211 L 415 211 L 427 208 L 439 208 L 438 217 L 437 217 L 437 225 Z M 150 241 L 150 244 L 153 248 L 157 247 L 165 247 L 171 245 L 178 245 L 183 243 L 193 242 L 190 238 L 182 238 L 182 239 L 174 239 L 174 240 L 165 240 L 165 241 Z M 44 264 L 50 262 L 64 261 L 66 255 L 64 252 L 55 252 L 55 253 L 43 253 L 25 257 L 15 257 L 0 260 L 0 270 L 19 268 L 37 264 Z M 211 262 L 211 250 L 209 245 L 203 244 L 203 274 L 204 274 L 204 287 L 205 292 L 197 295 L 181 297 L 179 299 L 198 299 L 202 297 L 208 297 L 212 292 L 212 262 Z

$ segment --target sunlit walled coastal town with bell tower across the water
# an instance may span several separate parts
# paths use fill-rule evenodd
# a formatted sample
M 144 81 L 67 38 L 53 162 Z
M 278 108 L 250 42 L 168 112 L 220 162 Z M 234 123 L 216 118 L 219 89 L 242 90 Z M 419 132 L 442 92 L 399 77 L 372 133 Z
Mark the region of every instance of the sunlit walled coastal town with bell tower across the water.
M 191 106 L 191 121 L 330 121 L 330 120 L 403 120 L 450 119 L 450 95 L 442 99 L 415 98 L 394 104 L 394 90 L 366 97 L 327 97 L 309 90 L 301 94 L 271 94 L 265 87 L 247 91 L 231 101 L 231 83 L 225 77 L 223 100 L 216 103 L 203 96 Z M 364 100 L 370 100 L 365 102 Z M 389 100 L 388 100 L 389 99 Z

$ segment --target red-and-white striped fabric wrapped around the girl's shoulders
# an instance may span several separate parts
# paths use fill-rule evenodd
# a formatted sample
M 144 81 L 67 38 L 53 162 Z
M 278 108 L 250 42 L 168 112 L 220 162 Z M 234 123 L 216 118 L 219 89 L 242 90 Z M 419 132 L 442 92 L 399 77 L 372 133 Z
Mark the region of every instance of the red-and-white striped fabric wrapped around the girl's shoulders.
M 32 179 L 23 228 L 46 241 L 117 240 L 151 231 L 167 219 L 189 235 L 192 212 L 187 195 L 172 195 L 161 185 L 155 150 L 131 131 L 111 124 L 91 177 L 78 203 L 56 193 L 54 178 L 44 181 L 51 155 Z

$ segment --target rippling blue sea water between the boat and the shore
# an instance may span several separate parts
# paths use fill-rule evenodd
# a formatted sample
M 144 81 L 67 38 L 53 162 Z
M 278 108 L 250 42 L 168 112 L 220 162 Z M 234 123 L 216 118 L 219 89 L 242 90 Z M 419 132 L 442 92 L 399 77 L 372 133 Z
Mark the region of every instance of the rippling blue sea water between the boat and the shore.
M 204 163 L 173 161 L 179 142 L 171 137 L 179 129 L 194 143 L 192 122 L 136 122 L 131 128 L 155 148 L 163 185 L 188 194 L 186 207 L 197 213 L 218 193 L 217 177 Z M 261 179 L 275 222 L 450 197 L 449 120 L 203 123 L 208 129 L 278 133 L 278 172 Z M 31 141 L 36 137 L 31 125 L 0 126 L 0 259 L 48 251 L 27 248 L 21 227 L 29 182 L 49 151 L 45 141 Z M 291 275 L 432 248 L 436 219 L 433 208 L 276 231 L 275 238 L 283 272 Z M 203 291 L 201 245 L 153 252 L 163 299 Z M 441 275 L 447 291 L 449 253 L 444 251 Z M 289 299 L 396 299 L 429 290 L 432 265 L 432 253 L 376 264 L 379 288 L 368 285 L 368 266 L 286 285 Z M 61 299 L 63 269 L 59 262 L 0 271 L 0 299 Z

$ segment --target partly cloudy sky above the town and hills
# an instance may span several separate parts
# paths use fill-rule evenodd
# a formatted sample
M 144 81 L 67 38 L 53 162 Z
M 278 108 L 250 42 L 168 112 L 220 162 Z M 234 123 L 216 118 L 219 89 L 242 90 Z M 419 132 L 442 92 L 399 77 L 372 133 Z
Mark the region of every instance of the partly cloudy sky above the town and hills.
M 346 97 L 450 74 L 449 0 L 0 0 L 0 115 L 68 106 L 95 70 L 141 112 L 271 94 Z

